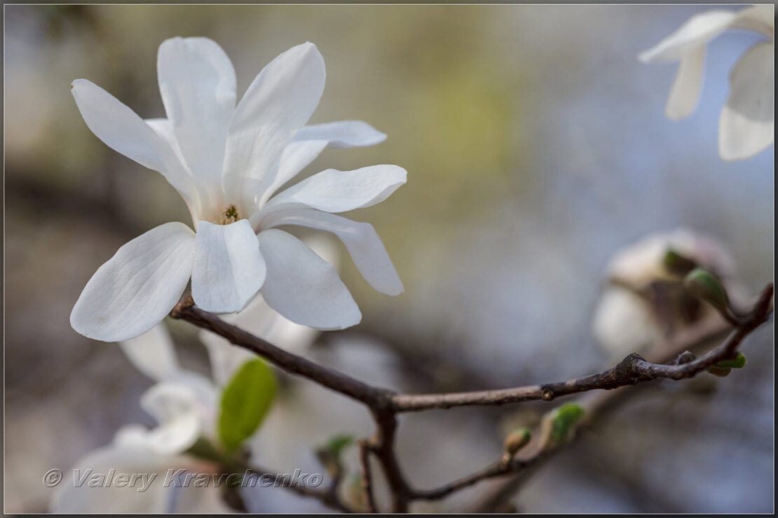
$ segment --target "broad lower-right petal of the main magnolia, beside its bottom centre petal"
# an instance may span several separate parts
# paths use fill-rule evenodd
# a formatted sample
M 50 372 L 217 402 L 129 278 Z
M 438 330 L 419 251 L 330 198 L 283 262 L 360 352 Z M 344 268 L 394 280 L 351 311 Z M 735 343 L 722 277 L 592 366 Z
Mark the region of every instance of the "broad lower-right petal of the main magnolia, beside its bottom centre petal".
M 258 238 L 268 264 L 261 293 L 271 308 L 316 329 L 359 323 L 362 315 L 335 267 L 286 232 L 270 229 Z

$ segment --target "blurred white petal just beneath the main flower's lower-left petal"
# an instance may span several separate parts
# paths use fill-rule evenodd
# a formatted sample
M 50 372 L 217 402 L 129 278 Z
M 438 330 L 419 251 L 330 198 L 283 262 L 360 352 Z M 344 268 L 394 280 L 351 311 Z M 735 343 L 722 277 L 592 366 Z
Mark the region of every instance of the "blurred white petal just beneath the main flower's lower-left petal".
M 173 340 L 162 323 L 119 345 L 130 362 L 152 380 L 169 380 L 179 371 Z

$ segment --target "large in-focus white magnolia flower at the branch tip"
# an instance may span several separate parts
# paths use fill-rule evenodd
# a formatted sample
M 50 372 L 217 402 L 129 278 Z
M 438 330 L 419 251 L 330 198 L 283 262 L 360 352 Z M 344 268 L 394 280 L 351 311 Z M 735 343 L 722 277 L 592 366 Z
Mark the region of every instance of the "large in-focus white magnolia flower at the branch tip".
M 334 233 L 376 290 L 402 292 L 373 227 L 331 213 L 385 200 L 405 183 L 404 169 L 328 169 L 276 194 L 328 145 L 386 137 L 355 120 L 305 126 L 324 89 L 324 60 L 313 43 L 276 57 L 237 106 L 233 65 L 212 40 L 164 41 L 157 72 L 167 119 L 142 120 L 86 79 L 72 83 L 72 94 L 100 140 L 177 189 L 196 232 L 166 223 L 122 246 L 86 284 L 73 329 L 106 342 L 141 335 L 173 308 L 190 279 L 206 311 L 240 311 L 261 292 L 293 322 L 317 329 L 358 323 L 359 308 L 335 268 L 276 228 L 282 225 Z

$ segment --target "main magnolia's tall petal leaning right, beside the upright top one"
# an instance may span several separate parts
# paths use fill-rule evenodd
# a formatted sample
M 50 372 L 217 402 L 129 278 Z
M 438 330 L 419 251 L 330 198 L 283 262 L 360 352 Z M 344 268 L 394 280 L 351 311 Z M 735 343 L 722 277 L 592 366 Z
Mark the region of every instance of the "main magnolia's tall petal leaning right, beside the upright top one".
M 241 179 L 275 172 L 286 144 L 314 113 L 324 78 L 324 58 L 313 43 L 292 47 L 262 69 L 230 120 L 223 176 L 228 196 L 241 194 Z

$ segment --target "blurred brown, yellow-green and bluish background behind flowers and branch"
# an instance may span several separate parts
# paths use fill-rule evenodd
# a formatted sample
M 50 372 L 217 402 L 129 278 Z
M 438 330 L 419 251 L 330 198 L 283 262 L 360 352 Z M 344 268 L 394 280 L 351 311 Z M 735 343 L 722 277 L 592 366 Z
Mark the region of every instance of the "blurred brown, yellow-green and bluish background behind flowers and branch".
M 324 151 L 306 174 L 408 170 L 389 200 L 350 214 L 377 228 L 405 294 L 377 294 L 342 260 L 363 322 L 324 333 L 320 347 L 379 343 L 397 359 L 386 368 L 420 391 L 498 388 L 608 365 L 591 332 L 605 266 L 647 233 L 718 238 L 749 294 L 773 280 L 773 148 L 734 163 L 717 154 L 729 70 L 758 37 L 710 44 L 699 107 L 680 122 L 663 114 L 675 65 L 636 58 L 705 9 L 5 6 L 5 511 L 46 511 L 45 471 L 72 466 L 119 426 L 152 425 L 138 407 L 150 381 L 68 317 L 120 245 L 166 221 L 191 224 L 162 176 L 89 132 L 73 79 L 163 116 L 156 50 L 168 37 L 216 40 L 239 96 L 277 54 L 316 43 L 328 80 L 311 122 L 366 120 L 389 138 Z M 170 325 L 182 362 L 205 372 L 195 330 Z M 746 343 L 746 370 L 651 384 L 538 471 L 514 509 L 771 511 L 772 343 L 771 322 Z M 370 358 L 339 368 L 374 369 Z M 519 411 L 404 416 L 409 477 L 432 487 L 481 467 Z M 268 510 L 299 510 L 279 506 Z

